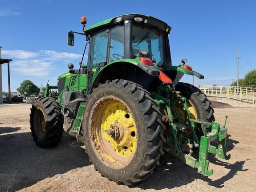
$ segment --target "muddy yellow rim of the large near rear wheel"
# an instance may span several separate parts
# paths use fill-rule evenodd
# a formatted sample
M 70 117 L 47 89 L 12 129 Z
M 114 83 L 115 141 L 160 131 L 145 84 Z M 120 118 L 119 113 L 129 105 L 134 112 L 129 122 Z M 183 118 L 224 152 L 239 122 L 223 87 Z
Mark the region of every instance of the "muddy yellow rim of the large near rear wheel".
M 102 98 L 91 117 L 89 133 L 97 156 L 112 168 L 129 164 L 137 148 L 137 128 L 126 104 L 113 96 Z

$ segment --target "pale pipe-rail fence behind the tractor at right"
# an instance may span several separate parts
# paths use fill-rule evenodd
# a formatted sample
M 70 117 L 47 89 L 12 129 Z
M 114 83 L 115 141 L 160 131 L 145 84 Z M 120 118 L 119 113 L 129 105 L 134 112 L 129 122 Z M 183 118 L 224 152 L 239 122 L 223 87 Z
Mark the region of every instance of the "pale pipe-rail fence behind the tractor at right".
M 224 97 L 251 104 L 255 104 L 256 101 L 256 88 L 214 85 L 199 85 L 197 87 L 207 96 Z

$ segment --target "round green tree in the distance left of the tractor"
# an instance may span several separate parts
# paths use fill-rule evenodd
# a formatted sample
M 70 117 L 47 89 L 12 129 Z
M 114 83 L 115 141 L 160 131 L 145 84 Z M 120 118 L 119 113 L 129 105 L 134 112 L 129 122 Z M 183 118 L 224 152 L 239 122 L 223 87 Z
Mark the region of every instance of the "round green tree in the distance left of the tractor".
M 38 95 L 40 92 L 40 88 L 37 85 L 33 84 L 31 80 L 24 80 L 20 87 L 17 88 L 17 91 L 20 92 L 21 95 L 30 96 L 32 94 Z

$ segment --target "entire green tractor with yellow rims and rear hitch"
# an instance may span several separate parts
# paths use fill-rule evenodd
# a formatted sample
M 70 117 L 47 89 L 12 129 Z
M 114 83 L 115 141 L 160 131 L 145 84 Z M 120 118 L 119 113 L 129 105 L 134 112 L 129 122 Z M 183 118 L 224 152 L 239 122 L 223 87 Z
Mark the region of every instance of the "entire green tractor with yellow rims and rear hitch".
M 85 36 L 87 64 L 59 76 L 32 104 L 32 136 L 41 148 L 56 146 L 63 130 L 85 145 L 102 176 L 117 184 L 137 183 L 153 172 L 164 152 L 211 176 L 208 153 L 227 156 L 226 120 L 215 123 L 211 102 L 199 88 L 179 80 L 203 79 L 186 59 L 171 64 L 171 27 L 152 16 L 127 14 L 70 31 Z M 55 91 L 54 91 L 55 90 Z M 212 141 L 214 144 L 212 144 Z

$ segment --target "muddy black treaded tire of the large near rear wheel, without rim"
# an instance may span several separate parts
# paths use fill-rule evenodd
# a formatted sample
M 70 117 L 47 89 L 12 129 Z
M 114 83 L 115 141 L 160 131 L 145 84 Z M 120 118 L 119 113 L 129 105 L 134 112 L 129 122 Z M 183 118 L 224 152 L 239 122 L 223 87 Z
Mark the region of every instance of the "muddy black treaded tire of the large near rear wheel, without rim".
M 90 136 L 90 130 L 94 129 L 90 119 L 97 113 L 94 108 L 100 98 L 108 96 L 117 97 L 126 104 L 137 126 L 138 142 L 135 155 L 130 163 L 122 168 L 113 168 L 102 162 L 95 152 L 95 146 L 91 141 L 92 136 Z M 137 183 L 149 176 L 159 164 L 159 158 L 164 153 L 165 138 L 163 132 L 165 126 L 161 117 L 162 114 L 158 111 L 150 93 L 140 85 L 127 80 L 112 80 L 105 84 L 99 84 L 98 88 L 94 89 L 89 96 L 82 120 L 86 152 L 94 164 L 95 170 L 98 170 L 102 176 L 106 176 L 109 180 L 125 185 Z M 98 120 L 100 120 L 99 116 Z

